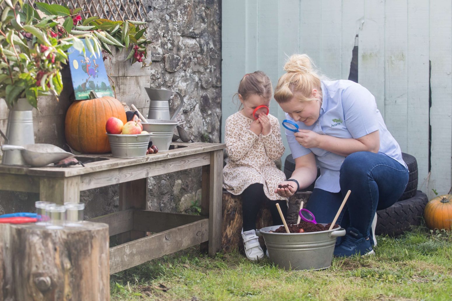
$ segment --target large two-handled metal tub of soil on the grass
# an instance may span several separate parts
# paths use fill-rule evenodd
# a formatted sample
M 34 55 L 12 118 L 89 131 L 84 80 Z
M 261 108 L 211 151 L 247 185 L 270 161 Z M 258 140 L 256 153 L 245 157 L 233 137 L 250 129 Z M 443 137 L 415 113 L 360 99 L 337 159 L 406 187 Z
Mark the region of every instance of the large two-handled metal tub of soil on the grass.
M 343 228 L 307 233 L 269 232 L 279 227 L 271 226 L 256 230 L 256 235 L 264 237 L 270 260 L 286 270 L 329 268 L 333 259 L 336 237 L 345 235 Z

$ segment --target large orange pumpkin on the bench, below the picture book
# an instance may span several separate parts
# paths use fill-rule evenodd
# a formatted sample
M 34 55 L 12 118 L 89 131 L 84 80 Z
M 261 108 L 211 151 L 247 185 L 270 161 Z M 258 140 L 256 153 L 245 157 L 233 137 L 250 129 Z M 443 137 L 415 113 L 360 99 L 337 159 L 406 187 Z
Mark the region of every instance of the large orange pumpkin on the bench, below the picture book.
M 124 107 L 110 96 L 98 97 L 94 91 L 91 99 L 77 100 L 66 113 L 65 136 L 72 149 L 86 154 L 110 152 L 110 143 L 105 132 L 105 123 L 110 117 L 127 122 Z

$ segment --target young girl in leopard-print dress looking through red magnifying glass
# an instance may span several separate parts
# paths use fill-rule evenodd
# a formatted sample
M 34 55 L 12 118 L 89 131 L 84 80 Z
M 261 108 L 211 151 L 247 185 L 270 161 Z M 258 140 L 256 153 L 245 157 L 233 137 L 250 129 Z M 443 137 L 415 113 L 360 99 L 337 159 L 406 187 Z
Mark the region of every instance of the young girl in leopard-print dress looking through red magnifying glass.
M 223 188 L 242 196 L 245 254 L 255 261 L 264 257 L 255 231 L 259 208 L 263 202 L 270 202 L 274 225 L 282 225 L 276 202 L 283 214 L 287 213 L 287 198 L 275 193 L 278 184 L 286 179 L 274 163 L 284 153 L 284 146 L 276 117 L 270 114 L 259 114 L 257 120 L 253 117 L 256 107 L 270 104 L 272 83 L 268 76 L 262 71 L 245 75 L 237 94 L 243 108 L 226 119 L 229 162 L 223 169 Z

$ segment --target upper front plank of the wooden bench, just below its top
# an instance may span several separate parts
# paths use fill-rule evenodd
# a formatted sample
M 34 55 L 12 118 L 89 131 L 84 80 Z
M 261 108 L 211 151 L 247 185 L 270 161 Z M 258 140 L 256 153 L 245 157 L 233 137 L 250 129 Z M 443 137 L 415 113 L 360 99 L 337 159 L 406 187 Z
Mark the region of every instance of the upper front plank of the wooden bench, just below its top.
M 81 176 L 80 190 L 124 183 L 141 178 L 207 165 L 209 154 L 188 155 L 141 165 L 119 167 Z

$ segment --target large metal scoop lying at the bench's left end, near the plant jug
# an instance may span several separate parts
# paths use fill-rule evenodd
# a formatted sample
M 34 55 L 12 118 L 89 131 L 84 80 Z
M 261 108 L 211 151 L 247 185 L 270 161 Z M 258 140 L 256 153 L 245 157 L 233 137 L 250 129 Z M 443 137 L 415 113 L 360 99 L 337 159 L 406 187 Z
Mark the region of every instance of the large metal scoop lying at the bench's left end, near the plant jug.
M 28 165 L 33 167 L 45 166 L 74 156 L 58 146 L 46 143 L 18 145 L 2 145 L 1 150 L 20 150 L 22 157 Z

